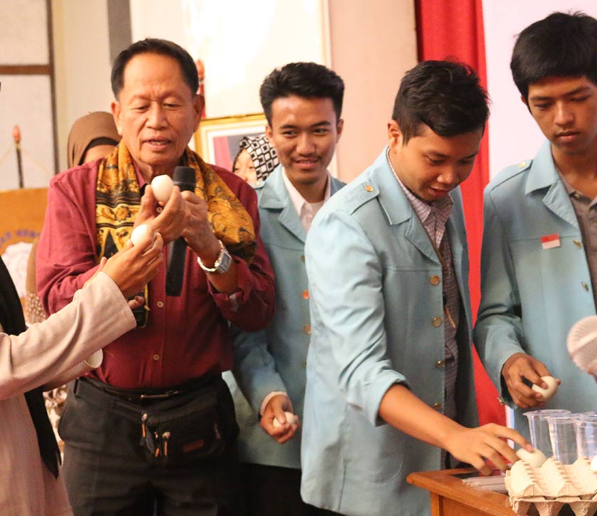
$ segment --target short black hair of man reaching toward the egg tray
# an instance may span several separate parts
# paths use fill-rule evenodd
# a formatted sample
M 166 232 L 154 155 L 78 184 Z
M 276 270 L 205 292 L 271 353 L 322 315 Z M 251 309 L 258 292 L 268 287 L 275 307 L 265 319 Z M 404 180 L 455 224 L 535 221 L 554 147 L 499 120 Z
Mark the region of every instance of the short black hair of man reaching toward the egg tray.
M 406 72 L 392 112 L 404 144 L 421 124 L 450 137 L 485 129 L 488 117 L 488 95 L 478 75 L 456 61 L 422 61 Z

